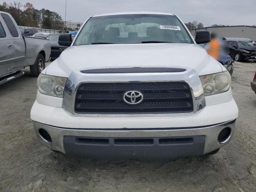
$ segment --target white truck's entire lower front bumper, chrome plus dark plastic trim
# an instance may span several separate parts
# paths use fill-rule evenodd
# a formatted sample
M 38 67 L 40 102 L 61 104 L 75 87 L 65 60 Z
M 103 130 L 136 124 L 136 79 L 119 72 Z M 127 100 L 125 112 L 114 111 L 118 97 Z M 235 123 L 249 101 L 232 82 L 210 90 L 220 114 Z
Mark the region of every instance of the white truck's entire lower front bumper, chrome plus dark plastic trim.
M 38 140 L 51 150 L 72 156 L 104 159 L 172 159 L 199 156 L 226 145 L 235 128 L 235 120 L 199 127 L 144 129 L 74 129 L 54 127 L 33 121 Z M 229 127 L 225 142 L 220 132 Z M 48 142 L 39 130 L 46 130 Z

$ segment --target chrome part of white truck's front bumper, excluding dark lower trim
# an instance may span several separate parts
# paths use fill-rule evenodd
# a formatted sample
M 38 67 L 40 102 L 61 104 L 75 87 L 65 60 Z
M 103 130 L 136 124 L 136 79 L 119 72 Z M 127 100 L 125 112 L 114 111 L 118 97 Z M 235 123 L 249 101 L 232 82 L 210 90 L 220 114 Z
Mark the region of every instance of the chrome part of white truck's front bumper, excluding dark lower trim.
M 202 154 L 212 152 L 230 142 L 234 133 L 236 120 L 215 124 L 211 126 L 190 127 L 190 128 L 159 128 L 159 129 L 68 129 L 59 128 L 33 121 L 34 129 L 38 140 L 51 150 L 60 151 L 66 154 L 64 136 L 76 136 L 87 138 L 167 138 L 167 137 L 196 137 L 204 136 L 204 148 Z M 223 143 L 218 142 L 218 135 L 223 128 L 231 129 L 230 137 Z M 40 128 L 46 130 L 52 142 L 46 141 L 40 134 Z M 134 147 L 134 146 L 133 146 Z M 177 146 L 179 147 L 179 146 Z M 136 146 L 135 146 L 136 148 Z M 106 148 L 107 152 L 108 148 Z M 191 150 L 191 149 L 190 149 Z M 195 149 L 196 150 L 196 149 Z

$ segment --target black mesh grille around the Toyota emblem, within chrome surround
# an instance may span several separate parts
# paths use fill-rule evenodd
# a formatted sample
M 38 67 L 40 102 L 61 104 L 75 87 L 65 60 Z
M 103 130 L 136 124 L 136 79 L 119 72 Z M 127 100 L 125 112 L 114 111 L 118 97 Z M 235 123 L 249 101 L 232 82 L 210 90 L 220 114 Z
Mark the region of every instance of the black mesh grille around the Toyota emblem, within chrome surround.
M 140 104 L 127 104 L 126 91 L 143 94 Z M 185 82 L 84 83 L 76 93 L 77 114 L 186 113 L 193 111 L 190 87 Z

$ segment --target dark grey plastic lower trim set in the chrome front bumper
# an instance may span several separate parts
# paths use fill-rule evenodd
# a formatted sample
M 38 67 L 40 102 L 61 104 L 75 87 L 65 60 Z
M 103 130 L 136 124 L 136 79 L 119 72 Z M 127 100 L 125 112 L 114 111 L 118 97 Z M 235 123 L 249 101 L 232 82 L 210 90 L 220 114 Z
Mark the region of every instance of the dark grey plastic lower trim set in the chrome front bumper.
M 102 142 L 102 139 L 104 139 L 104 142 Z M 81 142 L 81 140 L 86 142 Z M 163 160 L 202 155 L 204 153 L 205 136 L 168 138 L 64 136 L 63 142 L 65 152 L 70 156 L 104 160 Z

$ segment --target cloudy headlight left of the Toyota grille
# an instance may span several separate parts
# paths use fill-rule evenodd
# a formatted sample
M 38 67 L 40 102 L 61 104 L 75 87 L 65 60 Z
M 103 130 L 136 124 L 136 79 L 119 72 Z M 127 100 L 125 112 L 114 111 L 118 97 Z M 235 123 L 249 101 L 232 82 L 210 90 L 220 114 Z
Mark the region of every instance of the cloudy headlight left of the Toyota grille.
M 40 93 L 54 97 L 63 97 L 67 78 L 40 74 L 37 79 L 37 87 Z

